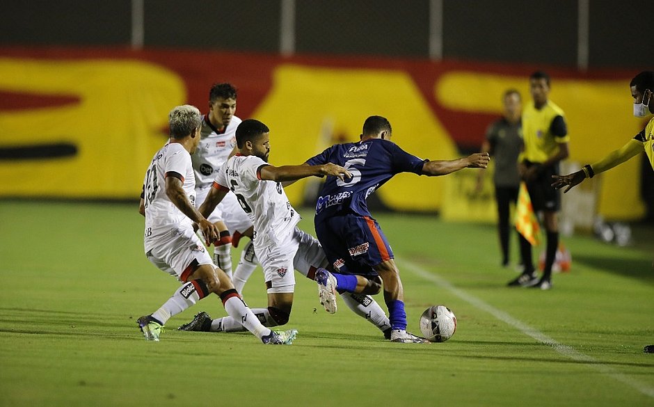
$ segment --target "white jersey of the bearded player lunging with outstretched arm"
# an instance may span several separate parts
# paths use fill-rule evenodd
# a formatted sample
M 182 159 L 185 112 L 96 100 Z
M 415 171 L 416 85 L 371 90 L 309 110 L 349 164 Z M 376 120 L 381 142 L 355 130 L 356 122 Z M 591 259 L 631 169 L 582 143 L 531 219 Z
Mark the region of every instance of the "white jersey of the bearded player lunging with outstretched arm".
M 261 180 L 260 170 L 268 165 L 254 155 L 237 154 L 223 164 L 214 184 L 215 188 L 232 190 L 250 217 L 255 230 L 255 250 L 292 234 L 300 221 L 282 184 Z

